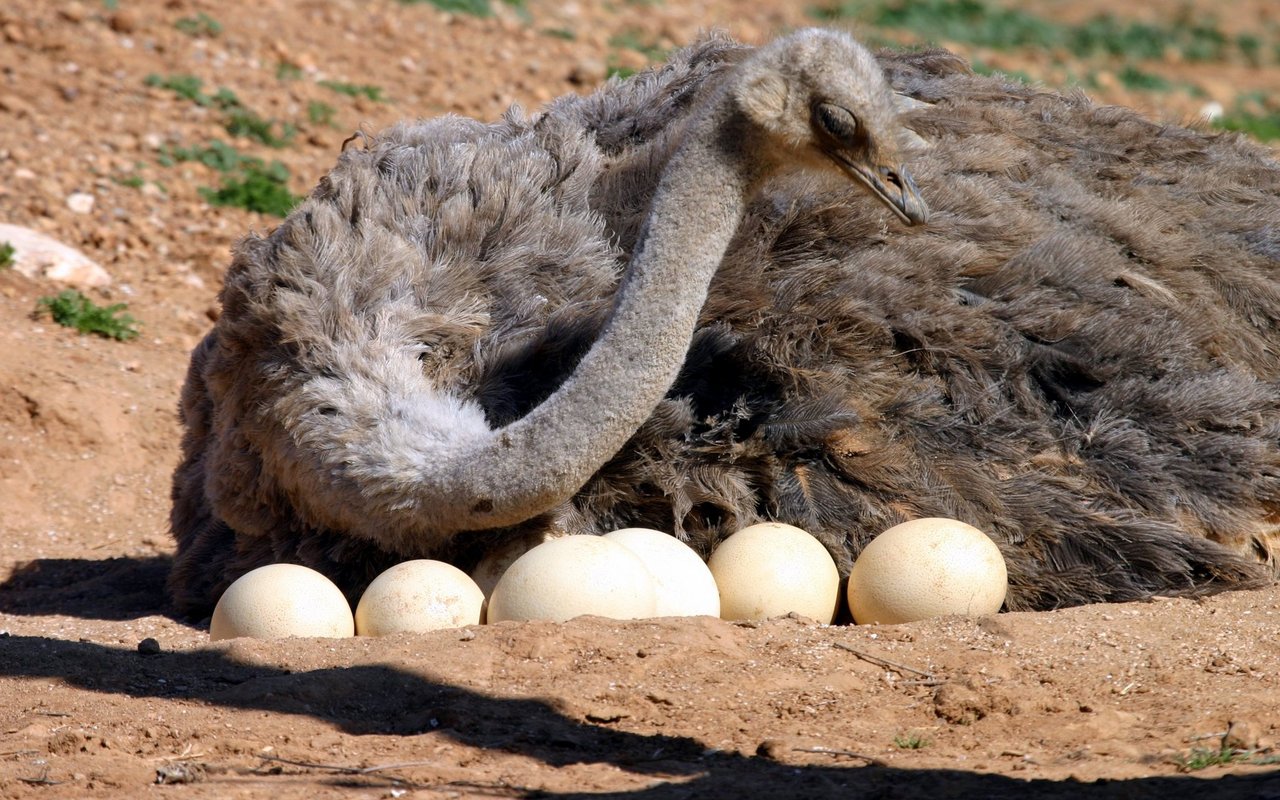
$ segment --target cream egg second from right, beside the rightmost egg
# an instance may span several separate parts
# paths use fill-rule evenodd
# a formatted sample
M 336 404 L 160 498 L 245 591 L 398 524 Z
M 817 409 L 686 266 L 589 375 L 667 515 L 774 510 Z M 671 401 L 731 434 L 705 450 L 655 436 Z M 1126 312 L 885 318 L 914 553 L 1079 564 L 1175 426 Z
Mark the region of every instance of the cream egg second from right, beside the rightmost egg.
M 768 620 L 796 612 L 831 622 L 840 608 L 840 572 L 809 532 L 762 522 L 719 543 L 707 562 L 724 620 Z

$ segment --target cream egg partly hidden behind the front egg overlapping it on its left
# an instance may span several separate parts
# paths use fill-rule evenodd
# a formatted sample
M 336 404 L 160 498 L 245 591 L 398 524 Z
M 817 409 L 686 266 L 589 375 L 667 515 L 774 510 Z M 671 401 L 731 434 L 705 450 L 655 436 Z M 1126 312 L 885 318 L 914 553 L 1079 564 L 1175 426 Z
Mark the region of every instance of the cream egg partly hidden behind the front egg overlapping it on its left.
M 719 616 L 719 589 L 707 562 L 671 534 L 648 527 L 623 527 L 604 534 L 640 557 L 653 576 L 655 617 Z

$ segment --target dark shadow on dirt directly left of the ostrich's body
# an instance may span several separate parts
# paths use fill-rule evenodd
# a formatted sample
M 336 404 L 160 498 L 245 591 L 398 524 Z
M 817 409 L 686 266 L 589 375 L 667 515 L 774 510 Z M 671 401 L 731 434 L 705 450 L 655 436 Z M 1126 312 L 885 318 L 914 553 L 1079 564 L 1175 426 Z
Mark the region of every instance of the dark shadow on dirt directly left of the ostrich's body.
M 165 579 L 173 558 L 36 558 L 0 584 L 0 613 L 83 620 L 177 618 Z

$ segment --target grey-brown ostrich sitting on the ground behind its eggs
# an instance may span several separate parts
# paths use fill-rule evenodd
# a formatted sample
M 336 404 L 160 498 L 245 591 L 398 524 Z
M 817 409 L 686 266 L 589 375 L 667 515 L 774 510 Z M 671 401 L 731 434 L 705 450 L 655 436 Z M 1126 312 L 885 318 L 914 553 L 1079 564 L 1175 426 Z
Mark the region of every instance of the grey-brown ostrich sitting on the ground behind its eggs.
M 997 541 L 1009 609 L 1258 586 L 1277 266 L 1262 148 L 832 31 L 401 124 L 236 251 L 170 590 L 760 520 L 847 573 L 919 516 Z

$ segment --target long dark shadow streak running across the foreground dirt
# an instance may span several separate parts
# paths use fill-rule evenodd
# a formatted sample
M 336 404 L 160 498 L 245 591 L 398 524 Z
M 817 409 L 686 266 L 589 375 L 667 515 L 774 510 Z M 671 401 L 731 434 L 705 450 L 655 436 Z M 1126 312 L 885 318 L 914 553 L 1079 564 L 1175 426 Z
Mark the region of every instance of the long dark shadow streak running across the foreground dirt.
M 1161 776 L 1082 783 L 1023 781 L 951 769 L 868 767 L 861 762 L 796 767 L 764 756 L 709 753 L 698 740 L 684 736 L 630 733 L 589 724 L 541 700 L 493 698 L 379 664 L 288 672 L 241 664 L 216 650 L 142 655 L 91 643 L 8 636 L 0 639 L 0 673 L 60 678 L 86 690 L 132 698 L 175 698 L 308 716 L 355 735 L 436 732 L 466 745 L 509 751 L 553 767 L 605 763 L 678 780 L 630 792 L 557 795 L 518 787 L 499 792 L 512 796 L 1280 799 L 1280 771 L 1216 780 Z M 323 776 L 317 780 L 325 781 Z M 329 780 L 335 785 L 343 781 L 337 776 Z

